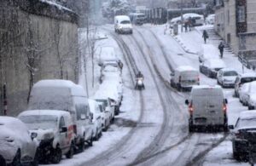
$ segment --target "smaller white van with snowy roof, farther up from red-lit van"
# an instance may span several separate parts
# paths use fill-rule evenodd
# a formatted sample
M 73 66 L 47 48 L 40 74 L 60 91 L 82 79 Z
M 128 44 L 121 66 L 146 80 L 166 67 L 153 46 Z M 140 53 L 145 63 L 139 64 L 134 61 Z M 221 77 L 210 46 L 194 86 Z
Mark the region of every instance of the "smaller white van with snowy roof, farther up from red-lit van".
M 178 66 L 171 73 L 171 86 L 182 89 L 192 89 L 192 86 L 200 84 L 200 73 L 191 66 Z

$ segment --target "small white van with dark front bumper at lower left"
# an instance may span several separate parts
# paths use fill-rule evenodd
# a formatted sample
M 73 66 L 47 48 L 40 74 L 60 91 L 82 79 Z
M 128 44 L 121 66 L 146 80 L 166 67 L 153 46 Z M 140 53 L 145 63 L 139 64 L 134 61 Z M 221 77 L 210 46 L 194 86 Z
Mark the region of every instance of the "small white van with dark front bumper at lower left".
M 73 157 L 75 134 L 69 112 L 32 110 L 21 112 L 18 118 L 31 133 L 37 133 L 40 161 L 60 163 L 62 155 Z

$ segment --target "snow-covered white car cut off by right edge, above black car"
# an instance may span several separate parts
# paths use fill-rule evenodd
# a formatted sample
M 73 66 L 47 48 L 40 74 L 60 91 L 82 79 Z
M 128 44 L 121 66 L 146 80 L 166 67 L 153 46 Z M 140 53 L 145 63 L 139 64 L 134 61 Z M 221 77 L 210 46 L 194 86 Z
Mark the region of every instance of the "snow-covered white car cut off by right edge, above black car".
M 251 83 L 244 83 L 241 86 L 239 100 L 243 106 L 248 106 L 250 96 L 256 93 L 256 81 Z

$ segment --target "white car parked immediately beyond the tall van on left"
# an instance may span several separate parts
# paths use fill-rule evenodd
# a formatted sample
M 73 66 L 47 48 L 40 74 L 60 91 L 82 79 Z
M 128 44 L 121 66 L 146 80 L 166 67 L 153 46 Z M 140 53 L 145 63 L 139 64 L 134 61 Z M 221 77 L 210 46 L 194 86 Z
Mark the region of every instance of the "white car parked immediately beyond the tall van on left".
M 102 112 L 96 102 L 96 100 L 88 100 L 90 106 L 90 112 L 93 114 L 93 138 L 99 140 L 102 135 Z

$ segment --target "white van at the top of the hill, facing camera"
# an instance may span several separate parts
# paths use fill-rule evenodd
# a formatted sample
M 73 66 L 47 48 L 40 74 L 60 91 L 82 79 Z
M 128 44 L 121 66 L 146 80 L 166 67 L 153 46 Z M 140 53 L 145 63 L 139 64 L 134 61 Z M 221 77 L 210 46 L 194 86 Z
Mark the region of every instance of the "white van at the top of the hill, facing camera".
M 114 31 L 117 33 L 132 34 L 130 17 L 127 15 L 117 15 L 114 17 Z

